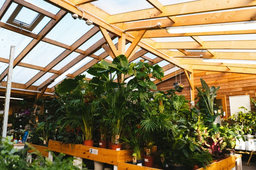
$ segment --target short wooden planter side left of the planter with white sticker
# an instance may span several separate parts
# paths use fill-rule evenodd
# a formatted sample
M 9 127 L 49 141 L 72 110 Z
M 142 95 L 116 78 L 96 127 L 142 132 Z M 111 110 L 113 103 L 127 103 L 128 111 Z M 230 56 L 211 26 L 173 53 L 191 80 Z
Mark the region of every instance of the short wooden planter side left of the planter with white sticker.
M 49 140 L 48 149 L 50 151 L 64 153 L 66 155 L 76 155 L 76 145 L 71 146 L 71 144 L 62 144 L 62 142 L 54 140 Z

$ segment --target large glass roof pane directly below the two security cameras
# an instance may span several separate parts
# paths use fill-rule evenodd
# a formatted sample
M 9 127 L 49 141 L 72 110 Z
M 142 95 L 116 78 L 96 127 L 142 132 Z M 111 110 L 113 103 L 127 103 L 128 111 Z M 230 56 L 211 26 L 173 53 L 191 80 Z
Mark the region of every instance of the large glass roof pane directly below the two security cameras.
M 84 20 L 74 20 L 67 14 L 45 37 L 71 46 L 92 28 Z

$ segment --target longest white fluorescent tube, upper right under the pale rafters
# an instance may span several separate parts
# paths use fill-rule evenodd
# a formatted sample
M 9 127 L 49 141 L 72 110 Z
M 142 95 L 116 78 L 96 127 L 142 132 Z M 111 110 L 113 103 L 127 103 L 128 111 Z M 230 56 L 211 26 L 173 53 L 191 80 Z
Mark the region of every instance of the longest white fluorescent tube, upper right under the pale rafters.
M 182 33 L 199 33 L 199 32 L 215 32 L 215 31 L 237 31 L 237 30 L 254 30 L 256 23 L 240 23 L 228 25 L 193 25 L 182 27 L 167 27 L 166 32 L 169 34 Z

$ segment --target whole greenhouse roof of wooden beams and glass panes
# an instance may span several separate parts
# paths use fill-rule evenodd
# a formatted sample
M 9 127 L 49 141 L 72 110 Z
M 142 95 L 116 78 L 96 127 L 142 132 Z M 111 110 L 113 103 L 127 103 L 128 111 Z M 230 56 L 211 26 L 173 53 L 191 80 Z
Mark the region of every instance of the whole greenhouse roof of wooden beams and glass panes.
M 111 62 L 122 38 L 129 62 L 160 65 L 163 80 L 179 69 L 256 74 L 255 8 L 254 0 L 0 0 L 1 84 L 11 45 L 12 87 L 51 93 L 65 78 L 91 79 L 88 68 Z

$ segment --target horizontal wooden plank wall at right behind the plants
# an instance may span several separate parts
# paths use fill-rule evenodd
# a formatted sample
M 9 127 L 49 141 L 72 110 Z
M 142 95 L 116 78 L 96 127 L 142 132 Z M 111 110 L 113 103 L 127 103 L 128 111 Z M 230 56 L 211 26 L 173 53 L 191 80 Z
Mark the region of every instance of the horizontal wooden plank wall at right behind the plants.
M 230 116 L 229 96 L 238 96 L 238 95 L 248 94 L 250 95 L 250 97 L 255 98 L 256 75 L 194 70 L 194 86 L 195 87 L 201 86 L 200 78 L 203 78 L 210 87 L 220 86 L 220 89 L 217 92 L 217 94 L 219 96 L 226 95 L 228 116 Z M 179 75 L 177 75 L 177 81 L 179 82 Z M 173 89 L 174 82 L 175 82 L 175 77 L 167 79 L 166 81 L 163 81 L 161 83 L 158 83 L 157 90 L 166 91 L 169 89 Z M 190 86 L 184 73 L 181 74 L 181 84 L 184 85 L 184 90 L 182 91 L 182 93 L 177 93 L 177 94 L 182 94 L 186 97 L 187 100 L 191 100 Z M 195 89 L 195 97 L 196 96 L 197 96 L 197 90 Z M 197 103 L 197 101 L 195 102 Z M 255 108 L 252 104 L 251 104 L 251 109 L 255 111 Z

